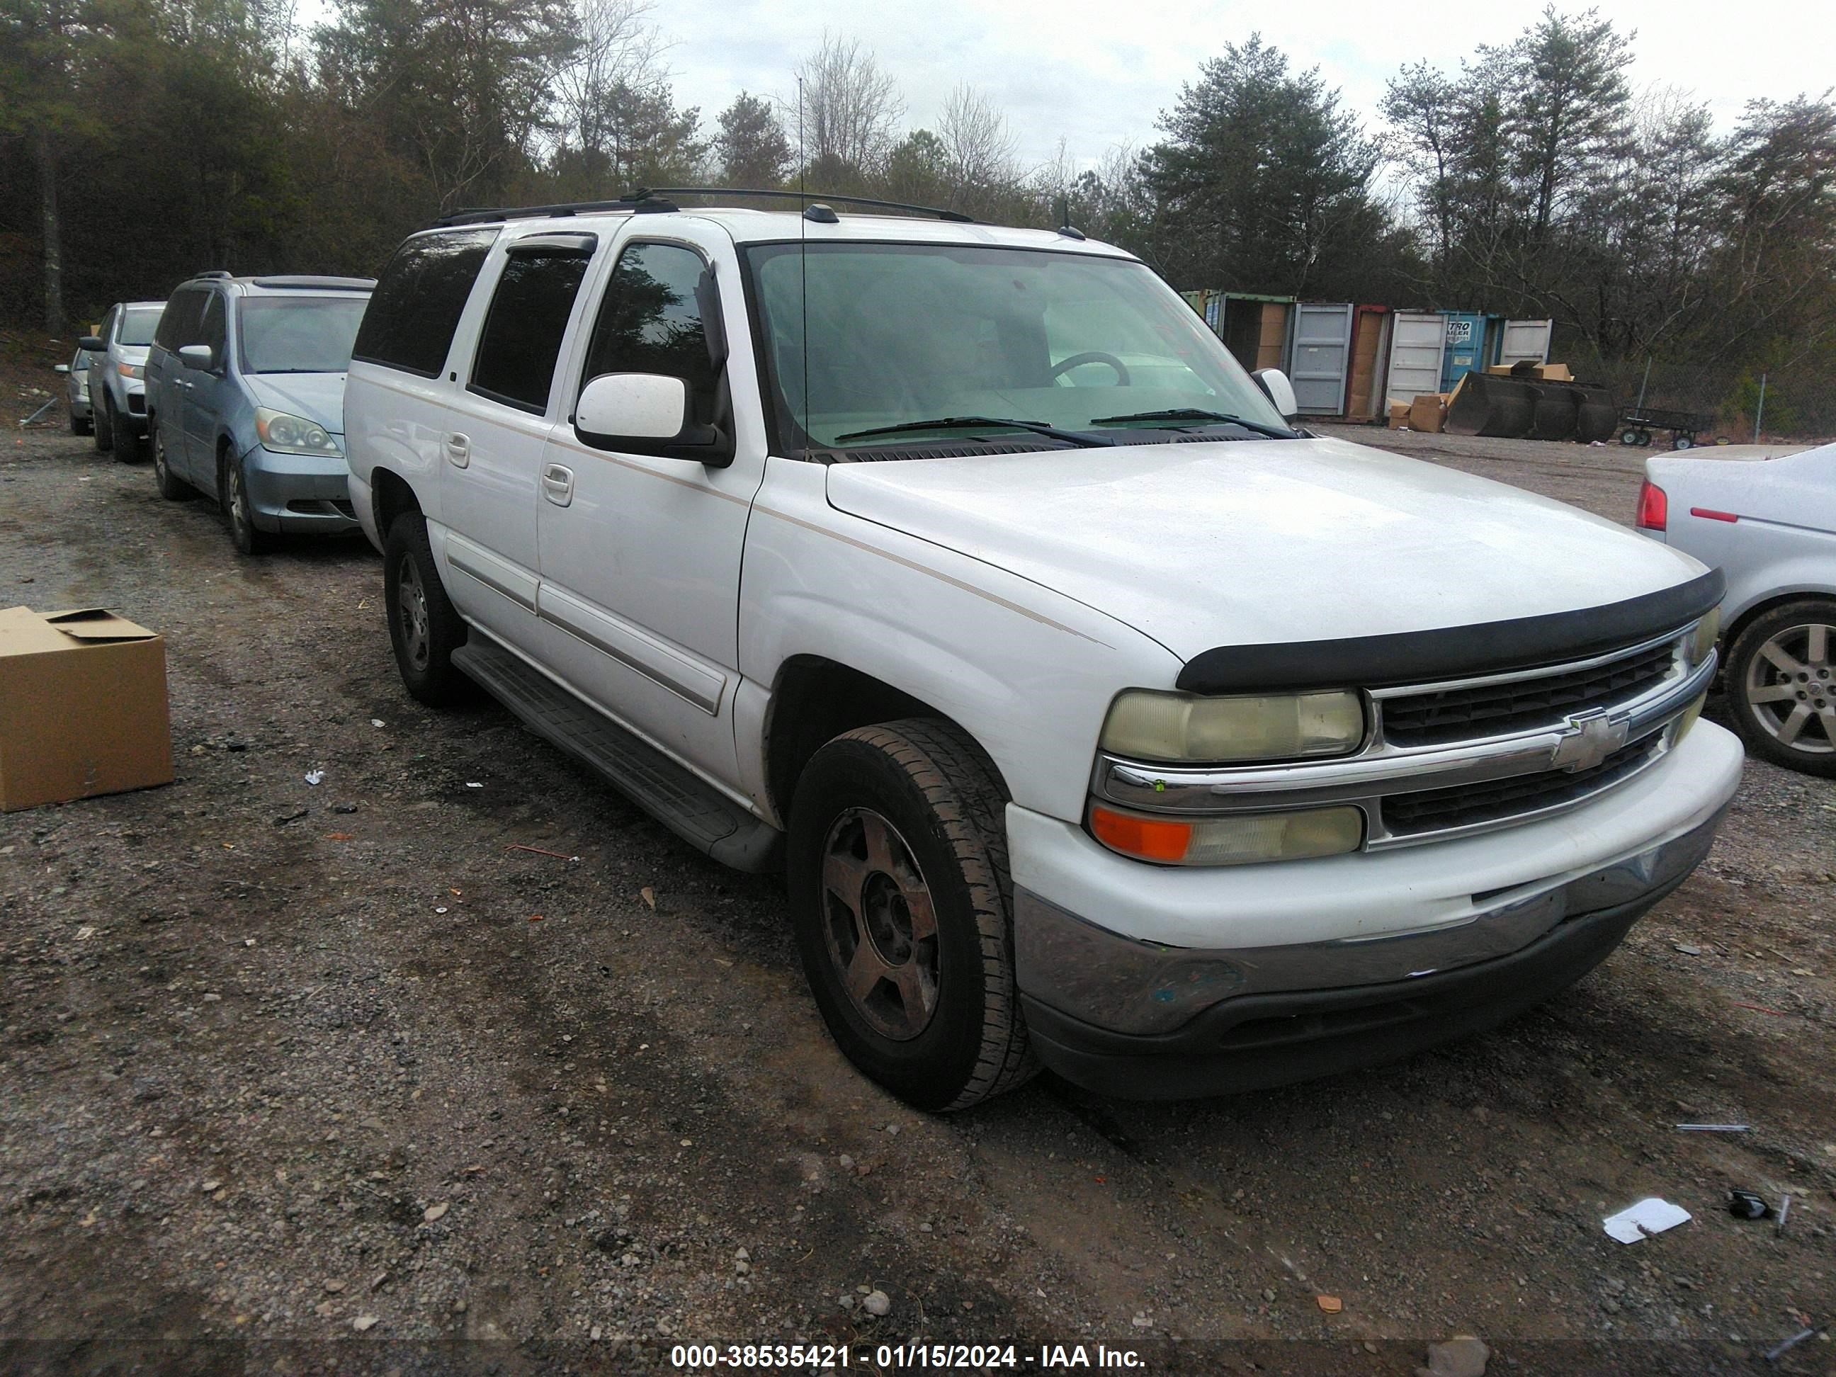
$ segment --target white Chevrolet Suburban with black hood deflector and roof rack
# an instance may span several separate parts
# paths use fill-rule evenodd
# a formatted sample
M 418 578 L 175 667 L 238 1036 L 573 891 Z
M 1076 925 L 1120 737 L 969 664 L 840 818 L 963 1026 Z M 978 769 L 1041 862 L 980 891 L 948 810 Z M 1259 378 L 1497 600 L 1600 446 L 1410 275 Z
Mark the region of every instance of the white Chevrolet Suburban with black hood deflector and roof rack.
M 953 1109 L 1491 1026 L 1709 848 L 1720 575 L 1291 409 L 1074 230 L 639 195 L 409 237 L 345 433 L 409 692 L 782 867 Z

